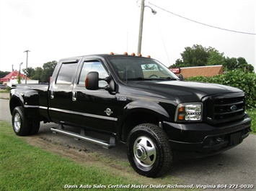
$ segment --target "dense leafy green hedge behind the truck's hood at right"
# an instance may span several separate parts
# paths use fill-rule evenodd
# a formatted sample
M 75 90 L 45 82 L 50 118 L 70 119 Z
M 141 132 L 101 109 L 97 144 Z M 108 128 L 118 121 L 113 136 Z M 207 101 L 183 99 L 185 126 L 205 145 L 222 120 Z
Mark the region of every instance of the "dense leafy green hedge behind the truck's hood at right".
M 205 83 L 218 83 L 239 88 L 244 91 L 247 108 L 256 108 L 256 74 L 244 73 L 234 70 L 224 75 L 216 75 L 210 78 L 197 76 L 186 78 L 190 81 L 199 81 Z

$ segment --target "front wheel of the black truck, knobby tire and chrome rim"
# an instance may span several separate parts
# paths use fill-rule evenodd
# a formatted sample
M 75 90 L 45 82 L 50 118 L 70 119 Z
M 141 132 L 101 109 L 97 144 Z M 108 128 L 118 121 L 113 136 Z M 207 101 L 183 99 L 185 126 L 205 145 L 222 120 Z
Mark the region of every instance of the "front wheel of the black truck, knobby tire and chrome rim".
M 133 169 L 146 177 L 161 176 L 172 163 L 168 137 L 154 124 L 140 124 L 131 130 L 127 155 Z

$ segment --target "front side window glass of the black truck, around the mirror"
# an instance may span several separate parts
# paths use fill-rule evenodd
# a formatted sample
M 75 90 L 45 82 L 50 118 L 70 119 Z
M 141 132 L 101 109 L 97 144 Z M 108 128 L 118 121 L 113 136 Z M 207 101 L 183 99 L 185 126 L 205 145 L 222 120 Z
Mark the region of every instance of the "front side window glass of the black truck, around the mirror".
M 79 84 L 81 85 L 85 84 L 85 78 L 87 77 L 87 74 L 89 72 L 98 72 L 99 78 L 106 78 L 108 76 L 107 71 L 105 70 L 105 68 L 103 67 L 100 61 L 98 60 L 85 61 L 79 76 Z M 105 87 L 106 85 L 107 85 L 107 82 L 105 82 L 104 80 L 99 81 L 100 87 Z

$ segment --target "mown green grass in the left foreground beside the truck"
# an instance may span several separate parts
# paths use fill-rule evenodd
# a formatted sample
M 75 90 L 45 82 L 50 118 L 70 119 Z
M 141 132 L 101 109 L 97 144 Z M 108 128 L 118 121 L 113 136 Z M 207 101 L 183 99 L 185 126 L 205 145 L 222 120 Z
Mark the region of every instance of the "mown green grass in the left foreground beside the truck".
M 100 167 L 78 164 L 46 152 L 15 136 L 9 123 L 0 121 L 0 190 L 63 190 L 65 185 L 139 185 Z

